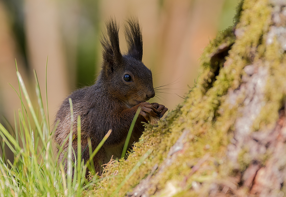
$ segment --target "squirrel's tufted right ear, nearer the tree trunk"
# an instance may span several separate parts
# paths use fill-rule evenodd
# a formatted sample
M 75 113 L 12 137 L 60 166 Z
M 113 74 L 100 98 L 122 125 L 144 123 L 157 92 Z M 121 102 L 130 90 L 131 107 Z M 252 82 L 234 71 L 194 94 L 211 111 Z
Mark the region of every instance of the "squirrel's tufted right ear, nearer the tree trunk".
M 128 55 L 142 61 L 143 39 L 138 18 L 127 19 L 125 24 L 125 38 L 128 44 Z

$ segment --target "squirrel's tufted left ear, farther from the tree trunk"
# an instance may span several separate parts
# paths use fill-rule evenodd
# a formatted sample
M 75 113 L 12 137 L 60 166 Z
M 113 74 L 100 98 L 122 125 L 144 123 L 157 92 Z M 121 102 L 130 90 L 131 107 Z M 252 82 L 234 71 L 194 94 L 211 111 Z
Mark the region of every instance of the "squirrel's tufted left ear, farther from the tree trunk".
M 111 67 L 111 71 L 113 71 L 114 67 L 121 65 L 122 63 L 122 54 L 119 48 L 118 37 L 119 27 L 113 18 L 107 20 L 105 24 L 107 35 L 103 35 L 100 39 L 101 45 L 103 47 L 103 65 L 109 65 Z

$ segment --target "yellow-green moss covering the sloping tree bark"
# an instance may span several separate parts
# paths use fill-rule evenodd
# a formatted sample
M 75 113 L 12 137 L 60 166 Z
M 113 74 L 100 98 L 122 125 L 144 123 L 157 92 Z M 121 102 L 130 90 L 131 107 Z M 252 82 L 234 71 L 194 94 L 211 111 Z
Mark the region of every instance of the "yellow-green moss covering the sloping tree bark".
M 227 99 L 230 91 L 240 87 L 246 75 L 244 67 L 262 61 L 264 66 L 268 66 L 270 75 L 265 87 L 265 104 L 251 129 L 254 132 L 271 128 L 278 119 L 278 110 L 285 102 L 286 56 L 279 52 L 277 41 L 266 44 L 272 24 L 271 9 L 267 0 L 244 0 L 240 3 L 235 27 L 220 32 L 204 49 L 200 58 L 200 75 L 185 101 L 158 124 L 148 124 L 128 158 L 110 162 L 102 175 L 105 179 L 87 195 L 110 196 L 138 160 L 152 149 L 116 196 L 131 192 L 150 174 L 155 164 L 160 169 L 168 151 L 184 130 L 189 131 L 185 139 L 187 143 L 178 152 L 176 161 L 164 168 L 163 175 L 150 180 L 152 186 L 148 194 L 164 196 L 164 192 L 168 193 L 173 187 L 176 188 L 173 189 L 176 190 L 175 196 L 208 196 L 213 182 L 223 183 L 234 178 L 234 169 L 245 170 L 251 162 L 248 150 L 241 150 L 239 167 L 233 166 L 226 156 L 244 98 L 237 98 L 231 106 Z M 261 157 L 261 161 L 266 159 L 267 156 Z M 198 168 L 194 170 L 194 166 Z M 241 194 L 247 191 L 242 189 Z

